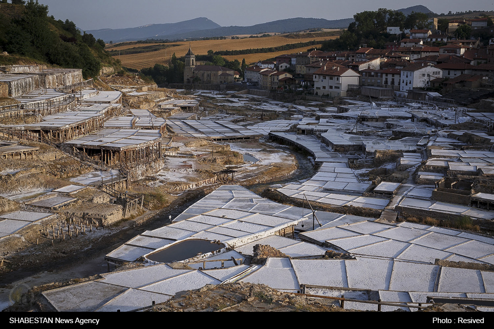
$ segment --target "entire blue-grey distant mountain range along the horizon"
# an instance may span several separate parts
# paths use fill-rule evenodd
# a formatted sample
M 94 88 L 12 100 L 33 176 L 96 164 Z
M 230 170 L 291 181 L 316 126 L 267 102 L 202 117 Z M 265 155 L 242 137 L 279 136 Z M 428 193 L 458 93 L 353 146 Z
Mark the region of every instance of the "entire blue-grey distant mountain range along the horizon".
M 398 9 L 405 15 L 414 12 L 432 13 L 423 5 Z M 327 20 L 322 18 L 289 18 L 252 26 L 222 27 L 206 17 L 168 24 L 149 24 L 137 28 L 89 30 L 97 39 L 105 42 L 121 42 L 145 39 L 179 40 L 202 37 L 227 37 L 233 35 L 256 35 L 262 33 L 290 33 L 308 29 L 338 29 L 347 28 L 353 18 Z

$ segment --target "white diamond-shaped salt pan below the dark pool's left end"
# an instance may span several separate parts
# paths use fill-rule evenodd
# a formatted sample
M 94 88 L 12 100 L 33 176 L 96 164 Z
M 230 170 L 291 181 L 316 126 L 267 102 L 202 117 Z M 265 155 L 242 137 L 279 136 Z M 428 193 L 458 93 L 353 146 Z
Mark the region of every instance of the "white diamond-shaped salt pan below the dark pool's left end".
M 194 290 L 206 285 L 218 285 L 221 281 L 201 272 L 191 271 L 141 287 L 141 290 L 174 295 L 184 290 Z

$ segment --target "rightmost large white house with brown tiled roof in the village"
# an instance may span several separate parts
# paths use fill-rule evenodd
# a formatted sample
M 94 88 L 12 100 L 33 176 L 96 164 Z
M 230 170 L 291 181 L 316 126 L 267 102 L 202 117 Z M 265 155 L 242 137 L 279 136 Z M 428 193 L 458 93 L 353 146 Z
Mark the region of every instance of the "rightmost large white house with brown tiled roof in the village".
M 430 80 L 443 76 L 443 71 L 430 63 L 413 63 L 402 69 L 400 91 L 427 88 Z

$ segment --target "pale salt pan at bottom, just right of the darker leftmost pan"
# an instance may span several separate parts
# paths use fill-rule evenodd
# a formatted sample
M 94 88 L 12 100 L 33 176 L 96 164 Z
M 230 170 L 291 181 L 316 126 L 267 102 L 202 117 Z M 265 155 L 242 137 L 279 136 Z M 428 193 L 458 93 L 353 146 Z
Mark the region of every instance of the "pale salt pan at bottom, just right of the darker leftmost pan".
M 96 312 L 129 312 L 137 308 L 151 306 L 153 301 L 164 303 L 172 296 L 156 292 L 144 292 L 128 289 L 124 293 L 110 300 L 105 305 L 96 309 Z

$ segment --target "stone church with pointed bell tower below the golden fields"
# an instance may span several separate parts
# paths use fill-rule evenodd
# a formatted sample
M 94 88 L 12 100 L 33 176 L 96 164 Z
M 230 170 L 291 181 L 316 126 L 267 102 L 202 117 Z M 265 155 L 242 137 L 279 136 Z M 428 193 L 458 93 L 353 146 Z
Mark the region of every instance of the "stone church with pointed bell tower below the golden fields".
M 233 83 L 235 71 L 218 65 L 196 65 L 196 55 L 189 46 L 185 55 L 184 83 Z

